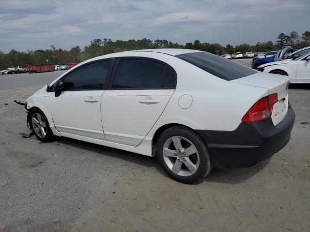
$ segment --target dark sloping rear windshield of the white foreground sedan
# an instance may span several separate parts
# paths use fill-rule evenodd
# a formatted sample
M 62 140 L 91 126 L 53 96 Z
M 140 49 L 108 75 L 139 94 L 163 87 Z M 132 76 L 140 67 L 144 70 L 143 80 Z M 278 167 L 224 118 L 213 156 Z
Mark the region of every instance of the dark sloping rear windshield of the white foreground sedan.
M 175 57 L 227 81 L 257 73 L 241 64 L 208 52 L 186 53 Z

